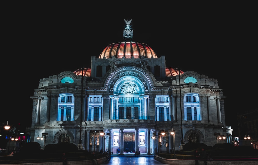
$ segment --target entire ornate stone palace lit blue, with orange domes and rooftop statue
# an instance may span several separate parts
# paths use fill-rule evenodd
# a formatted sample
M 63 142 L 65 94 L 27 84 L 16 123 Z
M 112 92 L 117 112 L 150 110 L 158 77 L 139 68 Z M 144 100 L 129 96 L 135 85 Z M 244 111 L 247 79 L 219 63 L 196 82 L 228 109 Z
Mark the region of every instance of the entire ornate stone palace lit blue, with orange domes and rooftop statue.
M 173 145 L 180 150 L 181 133 L 181 146 L 213 146 L 214 132 L 231 143 L 217 80 L 166 67 L 165 56 L 158 58 L 148 45 L 134 42 L 131 20 L 125 23 L 124 41 L 108 45 L 99 58 L 92 56 L 91 68 L 39 81 L 31 97 L 31 141 L 43 146 L 37 137 L 48 133 L 46 145 L 70 142 L 94 152 L 119 148 L 120 154 L 170 152 Z

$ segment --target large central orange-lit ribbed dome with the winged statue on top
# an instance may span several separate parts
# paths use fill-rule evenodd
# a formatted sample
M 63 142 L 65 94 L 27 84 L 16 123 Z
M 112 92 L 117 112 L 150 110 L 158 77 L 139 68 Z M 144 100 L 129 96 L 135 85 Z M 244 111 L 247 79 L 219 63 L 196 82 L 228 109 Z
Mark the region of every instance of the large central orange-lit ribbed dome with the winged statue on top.
M 130 28 L 130 21 L 126 21 L 126 28 L 123 33 L 123 42 L 108 45 L 99 55 L 99 58 L 158 58 L 156 53 L 146 44 L 133 42 L 133 30 Z

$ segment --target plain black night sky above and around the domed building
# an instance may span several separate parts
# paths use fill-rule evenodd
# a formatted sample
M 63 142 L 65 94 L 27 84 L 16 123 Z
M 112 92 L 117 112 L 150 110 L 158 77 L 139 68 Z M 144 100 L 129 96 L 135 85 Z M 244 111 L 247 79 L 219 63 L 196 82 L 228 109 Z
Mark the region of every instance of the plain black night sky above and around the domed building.
M 9 124 L 30 126 L 30 97 L 39 80 L 90 67 L 91 56 L 98 57 L 106 46 L 123 40 L 124 19 L 132 19 L 134 41 L 149 45 L 158 57 L 166 56 L 166 67 L 180 67 L 219 81 L 227 97 L 227 126 L 236 128 L 237 111 L 257 108 L 253 104 L 257 30 L 251 9 L 60 8 L 10 7 L 4 14 L 1 123 L 9 120 Z

